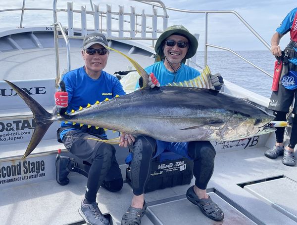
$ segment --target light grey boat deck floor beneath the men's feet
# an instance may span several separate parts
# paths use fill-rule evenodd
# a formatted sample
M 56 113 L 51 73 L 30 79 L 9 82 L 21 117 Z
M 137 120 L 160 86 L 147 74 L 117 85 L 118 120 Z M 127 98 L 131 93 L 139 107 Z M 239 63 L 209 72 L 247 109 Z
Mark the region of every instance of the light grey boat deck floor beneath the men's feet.
M 217 153 L 214 174 L 207 190 L 224 210 L 225 219 L 222 222 L 206 218 L 197 206 L 186 199 L 185 193 L 194 184 L 193 179 L 191 185 L 148 192 L 148 210 L 142 225 L 296 224 L 296 167 L 283 165 L 281 157 L 276 160 L 265 157 L 266 149 Z M 125 173 L 123 170 L 122 172 Z M 1 189 L 1 224 L 84 224 L 78 208 L 84 197 L 86 178 L 76 173 L 71 173 L 69 178 L 70 183 L 67 186 L 60 186 L 55 180 L 49 180 Z M 254 184 L 249 184 L 252 182 Z M 246 183 L 244 188 L 239 186 Z M 97 200 L 100 210 L 111 215 L 113 224 L 120 224 L 131 197 L 132 189 L 125 183 L 122 190 L 116 193 L 100 188 Z

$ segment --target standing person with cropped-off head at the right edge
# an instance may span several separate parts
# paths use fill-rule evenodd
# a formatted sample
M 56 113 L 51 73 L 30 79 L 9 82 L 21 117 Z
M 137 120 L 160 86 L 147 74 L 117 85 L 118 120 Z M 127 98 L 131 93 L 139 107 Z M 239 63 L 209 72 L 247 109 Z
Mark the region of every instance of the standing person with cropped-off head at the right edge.
M 290 32 L 291 41 L 282 52 L 279 43 L 281 38 L 288 32 Z M 265 155 L 273 159 L 279 155 L 283 155 L 282 162 L 284 165 L 295 166 L 294 148 L 297 144 L 297 89 L 295 89 L 294 85 L 297 85 L 297 8 L 289 12 L 276 29 L 276 33 L 271 38 L 271 53 L 276 57 L 280 57 L 283 66 L 280 80 L 277 80 L 278 90 L 273 91 L 271 94 L 269 109 L 274 111 L 275 120 L 286 120 L 286 115 L 295 98 L 293 109 L 295 116 L 288 146 L 284 147 L 285 128 L 277 127 L 275 131 L 276 144 L 272 149 L 265 151 Z M 290 85 L 288 85 L 288 82 L 285 82 L 288 79 L 291 80 Z

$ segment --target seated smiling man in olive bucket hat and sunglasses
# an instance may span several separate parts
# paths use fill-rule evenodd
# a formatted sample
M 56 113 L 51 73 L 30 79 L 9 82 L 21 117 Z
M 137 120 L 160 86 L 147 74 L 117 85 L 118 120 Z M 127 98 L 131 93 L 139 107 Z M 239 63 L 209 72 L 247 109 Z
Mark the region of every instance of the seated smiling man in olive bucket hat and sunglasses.
M 156 41 L 156 63 L 146 68 L 151 88 L 172 82 L 190 80 L 200 73 L 184 63 L 193 57 L 198 48 L 197 39 L 181 25 L 167 28 Z M 212 84 L 219 90 L 222 77 L 212 75 Z M 141 80 L 140 80 L 141 85 Z M 140 225 L 145 214 L 144 189 L 149 176 L 149 164 L 164 150 L 173 151 L 194 160 L 195 185 L 188 189 L 187 198 L 199 207 L 201 212 L 214 221 L 224 219 L 223 211 L 206 193 L 206 186 L 214 169 L 215 150 L 208 141 L 170 143 L 150 137 L 138 137 L 134 143 L 131 161 L 131 183 L 134 196 L 131 206 L 122 217 L 122 225 Z

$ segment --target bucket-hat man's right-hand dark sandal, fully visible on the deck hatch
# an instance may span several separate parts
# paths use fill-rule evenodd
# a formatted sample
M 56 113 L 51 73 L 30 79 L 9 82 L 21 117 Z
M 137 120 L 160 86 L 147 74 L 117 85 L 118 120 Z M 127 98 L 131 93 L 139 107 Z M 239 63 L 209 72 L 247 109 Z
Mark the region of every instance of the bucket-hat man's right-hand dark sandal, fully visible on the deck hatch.
M 211 200 L 210 197 L 202 199 L 198 198 L 194 192 L 194 186 L 187 190 L 186 196 L 190 202 L 192 202 L 194 205 L 197 205 L 201 212 L 211 220 L 221 221 L 224 219 L 223 211 Z

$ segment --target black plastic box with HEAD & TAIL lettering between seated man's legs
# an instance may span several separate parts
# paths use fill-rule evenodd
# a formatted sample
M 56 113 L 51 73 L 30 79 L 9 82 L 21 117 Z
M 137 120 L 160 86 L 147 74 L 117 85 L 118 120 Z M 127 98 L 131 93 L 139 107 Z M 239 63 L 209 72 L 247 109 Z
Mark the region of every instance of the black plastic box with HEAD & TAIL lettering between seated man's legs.
M 193 178 L 193 160 L 174 152 L 163 152 L 151 160 L 151 170 L 145 193 L 190 184 Z M 130 166 L 126 170 L 126 182 L 131 186 Z

